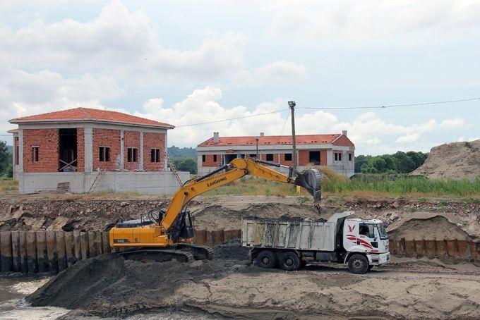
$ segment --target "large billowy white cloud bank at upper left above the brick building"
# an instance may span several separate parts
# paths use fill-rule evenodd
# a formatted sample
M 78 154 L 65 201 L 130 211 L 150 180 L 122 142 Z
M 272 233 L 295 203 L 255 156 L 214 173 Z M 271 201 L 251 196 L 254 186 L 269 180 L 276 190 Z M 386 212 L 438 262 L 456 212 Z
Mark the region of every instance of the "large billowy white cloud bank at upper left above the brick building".
M 224 32 L 191 49 L 172 49 L 144 11 L 128 11 L 114 0 L 92 21 L 33 20 L 11 30 L 0 24 L 0 59 L 21 69 L 102 70 L 129 82 L 145 80 L 192 82 L 235 78 L 240 73 L 256 82 L 303 75 L 304 68 L 275 61 L 257 70 L 246 67 L 247 37 Z M 0 62 L 1 64 L 2 62 Z

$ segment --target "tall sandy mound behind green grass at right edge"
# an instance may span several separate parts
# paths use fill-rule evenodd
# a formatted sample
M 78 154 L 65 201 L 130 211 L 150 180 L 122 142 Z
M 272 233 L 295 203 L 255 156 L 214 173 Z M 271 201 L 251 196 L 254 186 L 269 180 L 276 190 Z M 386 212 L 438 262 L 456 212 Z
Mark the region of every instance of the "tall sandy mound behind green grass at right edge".
M 480 176 L 480 140 L 433 147 L 425 163 L 410 174 L 428 178 L 476 178 Z

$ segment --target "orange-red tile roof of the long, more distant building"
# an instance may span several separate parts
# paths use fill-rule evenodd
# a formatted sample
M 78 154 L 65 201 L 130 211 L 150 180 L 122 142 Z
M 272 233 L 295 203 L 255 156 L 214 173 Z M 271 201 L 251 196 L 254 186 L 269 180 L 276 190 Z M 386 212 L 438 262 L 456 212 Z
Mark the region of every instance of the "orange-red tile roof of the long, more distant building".
M 319 144 L 332 143 L 333 140 L 340 137 L 340 134 L 333 135 L 296 135 L 296 144 Z M 198 144 L 198 147 L 211 146 L 235 146 L 235 145 L 256 145 L 255 136 L 248 137 L 219 137 L 219 142 L 213 142 L 213 137 Z M 258 145 L 268 144 L 292 144 L 291 135 L 265 135 L 258 137 Z

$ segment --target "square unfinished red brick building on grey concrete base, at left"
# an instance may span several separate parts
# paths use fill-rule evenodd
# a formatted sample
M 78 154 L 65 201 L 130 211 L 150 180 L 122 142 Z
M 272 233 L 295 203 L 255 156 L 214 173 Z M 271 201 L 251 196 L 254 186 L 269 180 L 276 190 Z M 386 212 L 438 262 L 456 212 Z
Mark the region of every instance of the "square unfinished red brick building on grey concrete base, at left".
M 64 182 L 71 192 L 88 192 L 99 172 L 96 190 L 165 193 L 178 187 L 167 172 L 163 152 L 167 130 L 174 128 L 168 123 L 88 108 L 10 123 L 18 124 L 10 132 L 13 171 L 22 193 L 56 189 Z

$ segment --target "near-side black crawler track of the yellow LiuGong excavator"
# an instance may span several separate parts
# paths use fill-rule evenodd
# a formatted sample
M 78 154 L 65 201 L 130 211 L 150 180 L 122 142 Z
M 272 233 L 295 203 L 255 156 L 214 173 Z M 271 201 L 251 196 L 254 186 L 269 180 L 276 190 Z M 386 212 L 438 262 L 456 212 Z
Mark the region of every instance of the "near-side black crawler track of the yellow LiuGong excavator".
M 125 250 L 117 253 L 118 257 L 140 262 L 165 262 L 176 260 L 179 262 L 193 262 L 195 257 L 186 250 L 140 248 Z

